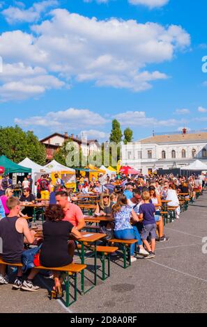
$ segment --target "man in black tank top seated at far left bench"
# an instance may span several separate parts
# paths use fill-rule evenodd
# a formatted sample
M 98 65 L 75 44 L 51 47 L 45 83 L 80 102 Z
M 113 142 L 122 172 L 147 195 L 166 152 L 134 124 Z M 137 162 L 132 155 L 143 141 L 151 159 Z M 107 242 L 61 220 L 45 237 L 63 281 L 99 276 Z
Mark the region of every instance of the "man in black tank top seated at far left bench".
M 8 198 L 6 201 L 10 213 L 0 221 L 0 237 L 3 243 L 2 259 L 8 263 L 21 263 L 21 256 L 24 250 L 24 237 L 29 244 L 34 241 L 34 232 L 30 231 L 25 218 L 20 218 L 20 201 L 16 198 Z M 37 291 L 40 287 L 33 285 L 33 278 L 38 270 L 31 269 L 31 273 L 24 282 L 22 281 L 22 267 L 18 267 L 17 278 L 13 289 L 24 289 L 26 291 Z M 0 284 L 8 284 L 6 276 L 6 265 L 0 265 Z

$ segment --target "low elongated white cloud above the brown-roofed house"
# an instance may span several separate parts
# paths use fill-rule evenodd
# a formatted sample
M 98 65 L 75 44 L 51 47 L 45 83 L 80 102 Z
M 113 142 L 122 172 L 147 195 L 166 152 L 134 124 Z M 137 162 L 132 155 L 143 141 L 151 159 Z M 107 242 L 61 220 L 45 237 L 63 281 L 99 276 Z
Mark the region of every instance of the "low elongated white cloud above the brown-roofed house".
M 77 127 L 98 127 L 107 122 L 98 113 L 89 111 L 89 109 L 70 108 L 66 111 L 51 111 L 45 116 L 33 116 L 26 119 L 15 118 L 15 123 L 22 126 L 42 126 L 52 128 L 63 128 L 68 130 L 76 130 Z

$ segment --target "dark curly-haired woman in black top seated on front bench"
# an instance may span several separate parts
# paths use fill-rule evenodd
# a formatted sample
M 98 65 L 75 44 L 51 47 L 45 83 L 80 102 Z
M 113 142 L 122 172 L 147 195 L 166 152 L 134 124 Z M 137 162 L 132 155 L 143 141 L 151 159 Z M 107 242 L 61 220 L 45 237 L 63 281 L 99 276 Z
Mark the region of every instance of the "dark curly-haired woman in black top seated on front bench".
M 60 205 L 49 205 L 45 212 L 46 221 L 43 224 L 44 241 L 40 250 L 40 263 L 46 267 L 66 266 L 72 262 L 68 253 L 68 240 L 70 233 L 76 239 L 82 237 L 72 223 L 63 221 L 65 214 Z M 61 295 L 61 273 L 54 271 L 54 292 Z

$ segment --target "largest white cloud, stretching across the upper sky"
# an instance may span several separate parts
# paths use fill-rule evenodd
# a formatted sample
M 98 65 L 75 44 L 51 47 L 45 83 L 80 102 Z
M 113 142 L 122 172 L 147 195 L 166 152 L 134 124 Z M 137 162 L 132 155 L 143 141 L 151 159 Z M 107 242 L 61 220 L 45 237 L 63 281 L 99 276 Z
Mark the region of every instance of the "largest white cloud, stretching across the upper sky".
M 45 74 L 67 83 L 93 81 L 99 87 L 140 92 L 154 81 L 167 79 L 167 74 L 150 71 L 148 65 L 171 61 L 176 51 L 190 45 L 190 35 L 181 26 L 90 19 L 63 9 L 51 15 L 52 19 L 33 26 L 31 33 L 0 35 L 4 63 L 42 67 Z

